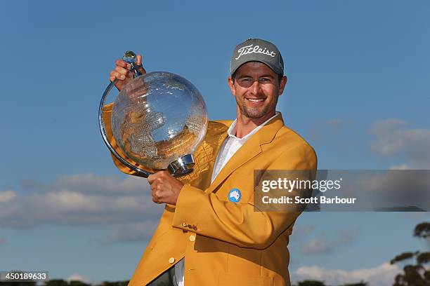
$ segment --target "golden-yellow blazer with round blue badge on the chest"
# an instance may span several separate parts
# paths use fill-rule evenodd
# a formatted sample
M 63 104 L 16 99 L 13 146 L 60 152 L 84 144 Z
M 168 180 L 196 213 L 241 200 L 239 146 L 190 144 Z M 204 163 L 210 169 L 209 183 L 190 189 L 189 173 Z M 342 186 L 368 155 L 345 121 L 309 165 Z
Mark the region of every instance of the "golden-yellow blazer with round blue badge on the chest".
M 110 133 L 111 107 L 103 113 Z M 312 147 L 279 114 L 256 132 L 211 184 L 219 148 L 232 121 L 210 121 L 195 171 L 175 205 L 166 205 L 130 286 L 147 285 L 185 257 L 185 285 L 290 285 L 287 244 L 300 212 L 254 212 L 254 170 L 316 170 Z M 112 134 L 108 134 L 116 146 Z M 122 172 L 133 171 L 114 162 Z M 239 203 L 228 192 L 242 193 Z

